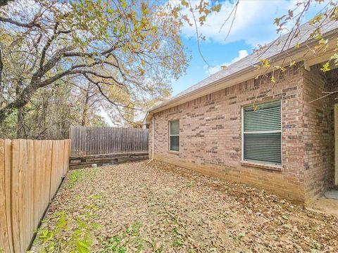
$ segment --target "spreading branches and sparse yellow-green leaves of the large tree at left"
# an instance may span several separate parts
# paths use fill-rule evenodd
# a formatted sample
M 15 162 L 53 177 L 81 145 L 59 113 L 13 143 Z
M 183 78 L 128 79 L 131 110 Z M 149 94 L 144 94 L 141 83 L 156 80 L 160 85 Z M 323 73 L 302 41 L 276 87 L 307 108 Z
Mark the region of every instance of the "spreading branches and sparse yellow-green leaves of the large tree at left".
M 180 30 L 189 18 L 182 6 L 189 4 L 8 1 L 0 8 L 0 124 L 39 89 L 65 79 L 87 79 L 117 110 L 156 99 L 187 66 Z M 203 22 L 219 5 L 199 0 L 191 11 Z M 112 99 L 111 91 L 131 103 Z

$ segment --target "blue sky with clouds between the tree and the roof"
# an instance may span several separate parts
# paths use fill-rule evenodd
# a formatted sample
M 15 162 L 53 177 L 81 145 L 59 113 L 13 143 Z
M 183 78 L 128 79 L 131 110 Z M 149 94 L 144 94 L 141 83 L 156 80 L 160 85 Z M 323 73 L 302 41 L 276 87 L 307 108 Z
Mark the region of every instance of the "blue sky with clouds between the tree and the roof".
M 220 31 L 220 27 L 232 10 L 233 4 L 231 1 L 223 1 L 221 11 L 211 15 L 206 20 L 206 24 L 199 27 L 201 34 L 206 36 L 206 41 L 201 41 L 201 52 L 208 64 L 212 66 L 209 70 L 199 55 L 194 27 L 183 28 L 182 41 L 191 51 L 192 60 L 189 62 L 187 73 L 173 81 L 173 96 L 219 70 L 220 65 L 229 65 L 234 60 L 239 60 L 251 53 L 258 44 L 267 44 L 275 39 L 277 37 L 276 27 L 273 25 L 275 18 L 287 13 L 294 7 L 296 1 L 240 0 L 234 25 L 225 40 L 231 18 L 223 30 Z M 303 21 L 313 18 L 326 4 L 327 2 L 324 2 L 311 6 Z

